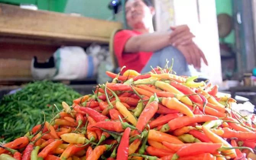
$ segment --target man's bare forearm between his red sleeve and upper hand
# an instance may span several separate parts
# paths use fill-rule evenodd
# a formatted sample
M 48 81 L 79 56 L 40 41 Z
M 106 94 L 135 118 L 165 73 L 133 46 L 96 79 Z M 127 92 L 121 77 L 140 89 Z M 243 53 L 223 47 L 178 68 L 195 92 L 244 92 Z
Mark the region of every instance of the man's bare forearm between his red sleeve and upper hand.
M 169 46 L 170 32 L 147 33 L 131 37 L 125 44 L 125 52 L 155 52 Z

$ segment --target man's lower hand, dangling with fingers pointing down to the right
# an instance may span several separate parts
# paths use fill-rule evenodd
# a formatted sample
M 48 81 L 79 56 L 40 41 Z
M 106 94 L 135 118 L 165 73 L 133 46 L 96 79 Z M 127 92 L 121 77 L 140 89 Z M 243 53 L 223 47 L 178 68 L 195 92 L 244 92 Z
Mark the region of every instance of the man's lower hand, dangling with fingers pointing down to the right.
M 186 61 L 189 65 L 194 65 L 194 68 L 201 68 L 201 58 L 204 63 L 208 65 L 208 62 L 204 56 L 204 53 L 195 43 L 190 43 L 188 45 L 179 45 L 177 49 L 184 55 Z

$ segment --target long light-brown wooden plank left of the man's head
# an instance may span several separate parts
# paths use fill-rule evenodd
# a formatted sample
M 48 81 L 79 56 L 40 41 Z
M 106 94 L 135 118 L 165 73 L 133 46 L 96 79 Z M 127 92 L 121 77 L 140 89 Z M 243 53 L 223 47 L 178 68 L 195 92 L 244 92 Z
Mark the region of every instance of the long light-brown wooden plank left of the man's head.
M 33 11 L 0 3 L 0 35 L 75 41 L 80 43 L 108 43 L 120 22 L 104 21 L 81 16 Z

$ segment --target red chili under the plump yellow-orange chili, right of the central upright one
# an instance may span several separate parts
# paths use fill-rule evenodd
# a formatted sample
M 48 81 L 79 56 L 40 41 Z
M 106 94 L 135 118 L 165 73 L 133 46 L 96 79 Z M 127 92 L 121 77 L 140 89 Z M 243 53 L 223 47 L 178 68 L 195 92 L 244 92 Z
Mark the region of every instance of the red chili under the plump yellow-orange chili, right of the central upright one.
M 167 114 L 167 115 L 165 115 L 165 116 L 158 117 L 157 119 L 152 120 L 152 121 L 149 123 L 149 126 L 150 126 L 150 128 L 155 128 L 155 127 L 157 127 L 157 126 L 159 126 L 159 125 L 166 124 L 166 123 L 169 122 L 170 120 L 175 119 L 175 118 L 180 117 L 180 116 L 183 116 L 183 114 L 181 114 L 181 113 L 171 113 L 171 114 Z

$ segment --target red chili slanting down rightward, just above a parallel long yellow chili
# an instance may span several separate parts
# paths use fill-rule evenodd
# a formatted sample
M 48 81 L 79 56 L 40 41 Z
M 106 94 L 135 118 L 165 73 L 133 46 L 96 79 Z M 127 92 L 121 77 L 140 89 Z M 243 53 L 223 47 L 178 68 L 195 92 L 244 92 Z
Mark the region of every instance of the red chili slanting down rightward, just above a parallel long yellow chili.
M 185 95 L 195 94 L 190 87 L 184 86 L 183 84 L 177 83 L 177 82 L 170 82 L 170 85 L 178 89 L 180 92 L 182 92 Z M 199 97 L 199 95 L 191 95 L 189 98 L 194 101 L 195 103 L 203 103 L 202 99 Z

